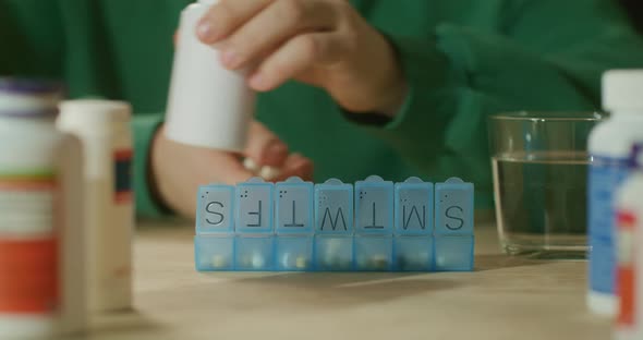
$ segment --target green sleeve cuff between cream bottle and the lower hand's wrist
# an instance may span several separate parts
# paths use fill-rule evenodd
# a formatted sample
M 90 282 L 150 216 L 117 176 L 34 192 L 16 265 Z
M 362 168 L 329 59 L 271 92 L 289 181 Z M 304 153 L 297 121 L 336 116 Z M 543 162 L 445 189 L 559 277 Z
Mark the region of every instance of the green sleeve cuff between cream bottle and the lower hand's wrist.
M 163 217 L 169 209 L 158 201 L 150 183 L 149 155 L 151 141 L 161 125 L 161 113 L 135 114 L 132 119 L 134 135 L 134 195 L 136 197 L 136 214 L 141 217 Z

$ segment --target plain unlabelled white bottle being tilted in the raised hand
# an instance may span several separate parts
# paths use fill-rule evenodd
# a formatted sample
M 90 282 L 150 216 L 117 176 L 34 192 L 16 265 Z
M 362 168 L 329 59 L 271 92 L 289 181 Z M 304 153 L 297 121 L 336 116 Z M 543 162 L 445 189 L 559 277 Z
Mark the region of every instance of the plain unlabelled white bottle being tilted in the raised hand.
M 225 69 L 219 52 L 196 36 L 196 25 L 217 0 L 199 0 L 181 13 L 166 116 L 170 139 L 243 151 L 255 110 L 255 93 L 243 72 Z

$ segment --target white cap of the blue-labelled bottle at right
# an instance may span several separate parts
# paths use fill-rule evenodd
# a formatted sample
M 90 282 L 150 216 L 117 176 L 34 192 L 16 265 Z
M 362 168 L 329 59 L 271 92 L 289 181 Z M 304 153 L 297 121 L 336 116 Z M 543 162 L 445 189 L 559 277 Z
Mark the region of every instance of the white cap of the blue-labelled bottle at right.
M 607 71 L 603 75 L 603 108 L 643 113 L 643 69 Z

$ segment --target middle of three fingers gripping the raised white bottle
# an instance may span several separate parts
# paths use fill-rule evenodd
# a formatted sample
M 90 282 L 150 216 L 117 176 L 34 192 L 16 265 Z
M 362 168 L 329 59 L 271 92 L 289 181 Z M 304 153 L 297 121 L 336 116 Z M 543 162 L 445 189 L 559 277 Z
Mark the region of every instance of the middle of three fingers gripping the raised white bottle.
M 275 1 L 230 36 L 221 62 L 229 69 L 242 69 L 299 33 L 330 31 L 333 9 L 317 0 Z

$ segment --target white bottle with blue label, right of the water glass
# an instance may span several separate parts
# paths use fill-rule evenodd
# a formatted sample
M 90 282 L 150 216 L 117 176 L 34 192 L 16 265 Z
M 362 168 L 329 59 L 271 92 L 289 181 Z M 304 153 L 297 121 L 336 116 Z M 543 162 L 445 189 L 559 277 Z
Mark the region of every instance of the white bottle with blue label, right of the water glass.
M 614 70 L 603 76 L 603 107 L 610 118 L 591 133 L 587 183 L 590 277 L 587 305 L 594 313 L 615 315 L 616 190 L 630 172 L 631 147 L 643 142 L 643 70 Z

